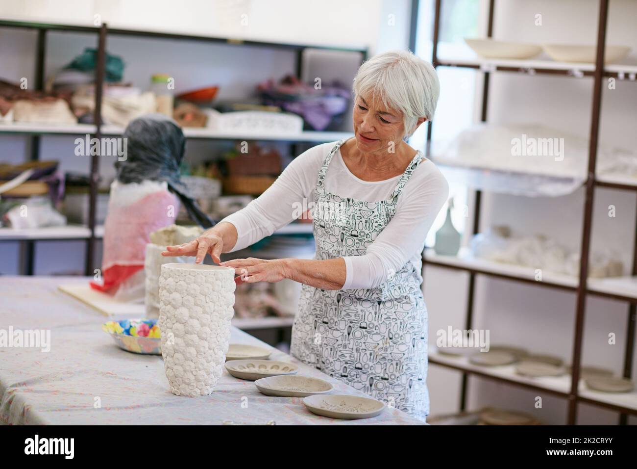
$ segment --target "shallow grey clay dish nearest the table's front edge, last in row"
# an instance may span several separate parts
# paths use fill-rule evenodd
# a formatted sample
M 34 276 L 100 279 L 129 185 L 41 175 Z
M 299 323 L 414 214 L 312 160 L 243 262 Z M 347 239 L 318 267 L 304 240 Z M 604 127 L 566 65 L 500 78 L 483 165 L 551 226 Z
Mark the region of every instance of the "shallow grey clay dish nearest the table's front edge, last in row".
M 315 394 L 303 398 L 303 404 L 310 412 L 333 419 L 368 419 L 385 409 L 381 401 L 348 394 Z

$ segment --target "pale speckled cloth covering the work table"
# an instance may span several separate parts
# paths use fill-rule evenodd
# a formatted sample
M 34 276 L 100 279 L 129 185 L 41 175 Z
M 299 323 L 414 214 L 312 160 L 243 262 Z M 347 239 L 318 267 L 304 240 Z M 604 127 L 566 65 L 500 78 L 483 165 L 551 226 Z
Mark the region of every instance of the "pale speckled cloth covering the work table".
M 301 398 L 264 396 L 225 369 L 210 396 L 175 396 L 161 356 L 120 350 L 100 329 L 106 316 L 57 290 L 74 281 L 89 278 L 0 277 L 0 329 L 50 329 L 51 341 L 50 352 L 0 347 L 0 424 L 422 424 L 390 408 L 357 421 L 319 417 Z M 271 359 L 333 383 L 334 393 L 365 396 L 235 327 L 231 342 L 271 348 Z

